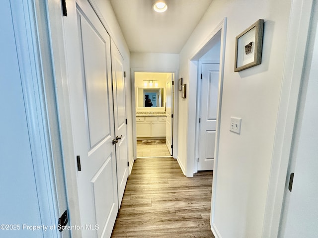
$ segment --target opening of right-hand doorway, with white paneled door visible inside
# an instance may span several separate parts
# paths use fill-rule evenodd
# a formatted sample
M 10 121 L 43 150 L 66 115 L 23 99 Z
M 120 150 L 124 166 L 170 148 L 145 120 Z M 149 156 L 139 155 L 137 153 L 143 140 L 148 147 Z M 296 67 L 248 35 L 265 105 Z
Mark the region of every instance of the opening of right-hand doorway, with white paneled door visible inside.
M 218 105 L 222 78 L 220 77 L 221 30 L 209 41 L 209 48 L 197 64 L 197 111 L 195 171 L 213 170 L 217 136 Z M 221 96 L 221 95 L 220 95 Z M 220 100 L 219 100 L 220 99 Z

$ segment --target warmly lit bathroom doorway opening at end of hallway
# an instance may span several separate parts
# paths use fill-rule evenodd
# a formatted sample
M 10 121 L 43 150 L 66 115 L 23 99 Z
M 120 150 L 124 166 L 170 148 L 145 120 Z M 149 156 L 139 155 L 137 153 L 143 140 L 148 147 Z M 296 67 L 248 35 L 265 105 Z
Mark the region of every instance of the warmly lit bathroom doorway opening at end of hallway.
M 173 155 L 175 72 L 133 72 L 135 158 Z

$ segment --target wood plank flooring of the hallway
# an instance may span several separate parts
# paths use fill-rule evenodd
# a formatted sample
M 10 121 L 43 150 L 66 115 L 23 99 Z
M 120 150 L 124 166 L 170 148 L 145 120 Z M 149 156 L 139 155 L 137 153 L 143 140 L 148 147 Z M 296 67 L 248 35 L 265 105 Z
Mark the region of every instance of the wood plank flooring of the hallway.
M 214 238 L 212 172 L 183 175 L 173 158 L 134 163 L 112 238 Z

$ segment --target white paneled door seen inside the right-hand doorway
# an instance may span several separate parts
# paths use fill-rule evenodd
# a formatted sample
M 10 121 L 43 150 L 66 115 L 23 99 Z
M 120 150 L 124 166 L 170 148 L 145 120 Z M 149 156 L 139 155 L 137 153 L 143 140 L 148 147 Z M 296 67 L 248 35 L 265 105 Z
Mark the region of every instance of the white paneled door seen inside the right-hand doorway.
M 198 171 L 213 170 L 219 65 L 202 63 Z

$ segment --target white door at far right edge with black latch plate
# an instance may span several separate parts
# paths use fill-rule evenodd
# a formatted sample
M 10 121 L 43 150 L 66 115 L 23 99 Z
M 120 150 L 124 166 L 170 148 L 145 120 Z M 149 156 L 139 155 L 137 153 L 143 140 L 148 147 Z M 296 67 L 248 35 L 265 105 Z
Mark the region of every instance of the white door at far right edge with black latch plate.
M 317 8 L 316 8 L 317 9 Z M 318 30 L 318 27 L 317 27 Z M 316 31 L 317 32 L 317 31 Z M 309 57 L 310 58 L 310 57 Z M 287 180 L 285 191 L 285 210 L 281 222 L 281 238 L 314 238 L 318 234 L 318 35 L 313 50 L 307 91 L 302 95 L 297 118 L 293 156 L 290 174 L 295 173 L 293 181 Z M 307 68 L 305 66 L 305 68 Z M 309 68 L 309 67 L 308 67 Z M 303 86 L 306 87 L 306 79 Z M 291 189 L 289 191 L 288 189 Z

